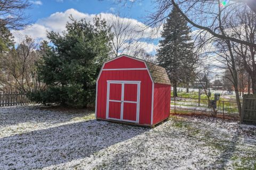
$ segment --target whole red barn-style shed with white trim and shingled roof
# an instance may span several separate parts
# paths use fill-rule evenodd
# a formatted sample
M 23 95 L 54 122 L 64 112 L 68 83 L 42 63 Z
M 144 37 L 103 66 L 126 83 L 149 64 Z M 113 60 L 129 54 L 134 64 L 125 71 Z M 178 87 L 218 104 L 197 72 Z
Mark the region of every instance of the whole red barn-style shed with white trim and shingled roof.
M 96 90 L 98 120 L 154 127 L 169 117 L 170 101 L 171 83 L 163 67 L 127 55 L 103 64 Z

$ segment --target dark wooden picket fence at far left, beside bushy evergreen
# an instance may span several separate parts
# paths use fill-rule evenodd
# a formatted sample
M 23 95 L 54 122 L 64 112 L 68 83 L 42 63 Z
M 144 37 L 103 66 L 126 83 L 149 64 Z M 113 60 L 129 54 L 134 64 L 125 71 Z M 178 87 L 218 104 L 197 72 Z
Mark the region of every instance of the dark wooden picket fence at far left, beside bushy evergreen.
M 0 107 L 27 105 L 30 101 L 26 94 L 19 92 L 0 92 Z

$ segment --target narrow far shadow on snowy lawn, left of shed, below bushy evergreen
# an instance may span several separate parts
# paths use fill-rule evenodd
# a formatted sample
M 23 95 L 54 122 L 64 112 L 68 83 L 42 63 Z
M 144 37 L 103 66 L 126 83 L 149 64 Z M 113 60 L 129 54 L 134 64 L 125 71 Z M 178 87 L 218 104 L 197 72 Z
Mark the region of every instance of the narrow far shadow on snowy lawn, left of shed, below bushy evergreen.
M 11 106 L 0 108 L 0 127 L 19 123 L 63 123 L 93 113 L 87 109 L 54 111 L 42 106 Z

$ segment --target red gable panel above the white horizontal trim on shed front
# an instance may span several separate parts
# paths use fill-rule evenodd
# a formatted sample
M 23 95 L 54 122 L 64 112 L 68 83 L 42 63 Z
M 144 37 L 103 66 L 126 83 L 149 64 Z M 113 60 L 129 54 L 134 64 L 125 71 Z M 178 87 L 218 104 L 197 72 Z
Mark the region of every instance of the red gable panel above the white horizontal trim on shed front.
M 134 60 L 129 57 L 119 57 L 116 60 L 105 63 L 103 69 L 134 69 L 134 68 L 146 68 L 144 62 Z

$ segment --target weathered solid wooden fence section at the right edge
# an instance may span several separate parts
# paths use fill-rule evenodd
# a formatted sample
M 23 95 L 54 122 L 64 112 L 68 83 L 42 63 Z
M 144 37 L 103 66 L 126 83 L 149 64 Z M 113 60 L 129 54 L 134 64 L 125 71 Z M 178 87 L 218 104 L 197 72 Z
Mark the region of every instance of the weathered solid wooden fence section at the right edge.
M 256 123 L 256 95 L 244 95 L 241 122 Z

